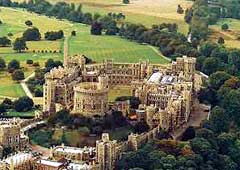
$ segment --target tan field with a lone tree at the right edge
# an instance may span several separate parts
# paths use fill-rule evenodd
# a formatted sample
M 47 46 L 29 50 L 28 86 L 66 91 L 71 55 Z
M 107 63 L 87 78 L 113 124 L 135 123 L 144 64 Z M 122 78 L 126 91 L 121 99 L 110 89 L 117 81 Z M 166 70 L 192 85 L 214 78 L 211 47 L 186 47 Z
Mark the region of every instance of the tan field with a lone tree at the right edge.
M 221 26 L 226 23 L 229 25 L 229 30 L 223 31 Z M 240 48 L 240 20 L 237 19 L 220 19 L 216 25 L 210 27 L 212 34 L 210 39 L 217 41 L 219 37 L 223 37 L 225 40 L 225 45 L 230 48 Z

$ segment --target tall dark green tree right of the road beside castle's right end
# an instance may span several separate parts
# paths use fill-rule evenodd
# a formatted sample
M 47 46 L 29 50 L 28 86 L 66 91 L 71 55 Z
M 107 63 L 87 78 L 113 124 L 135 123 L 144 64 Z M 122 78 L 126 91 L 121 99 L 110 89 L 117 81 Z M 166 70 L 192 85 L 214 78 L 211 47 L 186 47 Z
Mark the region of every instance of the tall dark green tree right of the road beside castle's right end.
M 227 132 L 229 129 L 229 116 L 219 106 L 212 109 L 209 122 L 212 130 L 216 133 Z

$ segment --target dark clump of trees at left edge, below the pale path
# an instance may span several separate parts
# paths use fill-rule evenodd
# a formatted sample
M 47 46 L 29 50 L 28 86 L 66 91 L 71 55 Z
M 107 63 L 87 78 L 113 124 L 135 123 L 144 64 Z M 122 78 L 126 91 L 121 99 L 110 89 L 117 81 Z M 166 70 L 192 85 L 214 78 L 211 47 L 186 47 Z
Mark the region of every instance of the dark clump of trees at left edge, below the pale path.
M 33 100 L 27 96 L 18 98 L 12 101 L 11 99 L 4 99 L 0 104 L 0 113 L 5 113 L 10 109 L 14 109 L 17 112 L 27 112 L 34 107 Z

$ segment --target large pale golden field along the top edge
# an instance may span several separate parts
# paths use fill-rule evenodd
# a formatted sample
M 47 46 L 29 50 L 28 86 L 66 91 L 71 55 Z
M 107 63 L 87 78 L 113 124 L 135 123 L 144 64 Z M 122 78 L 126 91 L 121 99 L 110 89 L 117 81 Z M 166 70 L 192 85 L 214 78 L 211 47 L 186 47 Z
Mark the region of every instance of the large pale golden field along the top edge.
M 49 0 L 52 3 L 64 0 Z M 130 0 L 130 4 L 124 5 L 121 0 L 68 0 L 83 4 L 83 11 L 91 13 L 106 14 L 108 12 L 122 12 L 126 15 L 126 21 L 141 23 L 148 27 L 163 22 L 177 23 L 179 31 L 188 32 L 188 25 L 184 22 L 184 15 L 177 14 L 177 5 L 184 9 L 192 5 L 186 0 Z

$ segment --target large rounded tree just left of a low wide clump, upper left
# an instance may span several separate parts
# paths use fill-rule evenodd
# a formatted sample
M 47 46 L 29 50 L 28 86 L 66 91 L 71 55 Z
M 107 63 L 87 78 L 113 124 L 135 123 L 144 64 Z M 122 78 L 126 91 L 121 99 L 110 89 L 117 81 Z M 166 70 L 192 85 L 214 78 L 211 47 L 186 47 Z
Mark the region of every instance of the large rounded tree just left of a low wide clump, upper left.
M 41 34 L 38 28 L 29 28 L 23 33 L 22 38 L 25 41 L 39 41 L 41 39 Z

